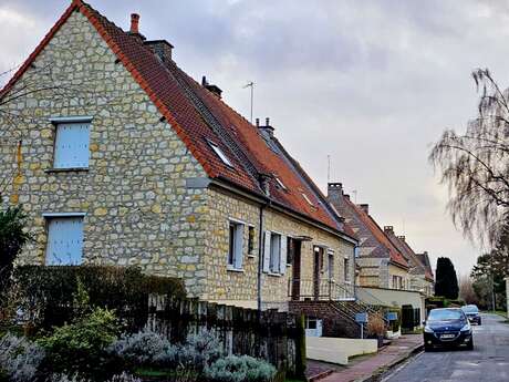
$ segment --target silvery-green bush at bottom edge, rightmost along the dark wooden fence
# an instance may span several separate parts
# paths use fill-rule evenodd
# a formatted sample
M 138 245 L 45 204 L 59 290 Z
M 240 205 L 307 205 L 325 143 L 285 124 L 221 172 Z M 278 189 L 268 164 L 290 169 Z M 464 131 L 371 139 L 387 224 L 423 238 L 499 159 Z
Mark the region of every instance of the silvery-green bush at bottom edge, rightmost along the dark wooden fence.
M 274 378 L 276 368 L 249 355 L 229 355 L 205 369 L 211 382 L 267 382 Z

